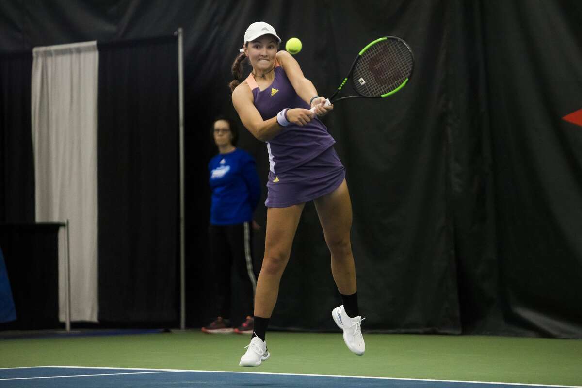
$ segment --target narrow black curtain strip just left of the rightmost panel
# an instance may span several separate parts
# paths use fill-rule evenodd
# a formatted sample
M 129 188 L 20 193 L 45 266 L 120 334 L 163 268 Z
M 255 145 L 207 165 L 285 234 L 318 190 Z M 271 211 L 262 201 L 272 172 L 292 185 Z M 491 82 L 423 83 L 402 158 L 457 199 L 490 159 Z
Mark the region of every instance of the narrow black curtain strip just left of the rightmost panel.
M 489 74 L 484 66 L 487 20 L 480 2 L 453 1 L 445 24 L 448 225 L 454 235 L 461 325 L 464 333 L 512 334 L 516 330 L 508 328 L 503 316 L 496 251 Z

